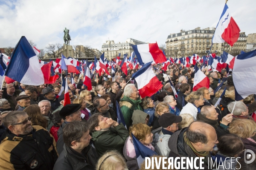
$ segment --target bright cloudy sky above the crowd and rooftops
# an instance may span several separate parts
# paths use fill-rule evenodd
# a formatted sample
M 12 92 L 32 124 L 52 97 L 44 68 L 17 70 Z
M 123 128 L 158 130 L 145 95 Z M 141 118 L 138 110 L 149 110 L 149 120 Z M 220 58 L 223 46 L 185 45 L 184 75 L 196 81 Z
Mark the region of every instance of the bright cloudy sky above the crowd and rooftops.
M 225 0 L 0 0 L 0 48 L 15 47 L 21 36 L 39 49 L 63 44 L 101 50 L 108 40 L 127 38 L 165 44 L 181 29 L 216 27 Z M 256 0 L 229 0 L 227 5 L 241 32 L 256 33 Z

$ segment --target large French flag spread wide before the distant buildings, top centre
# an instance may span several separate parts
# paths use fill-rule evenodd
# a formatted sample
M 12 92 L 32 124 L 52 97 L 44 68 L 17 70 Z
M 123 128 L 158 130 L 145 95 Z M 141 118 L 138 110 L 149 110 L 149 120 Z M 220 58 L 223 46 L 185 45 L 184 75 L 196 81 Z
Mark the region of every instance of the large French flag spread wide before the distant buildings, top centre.
M 151 61 L 152 64 L 166 62 L 166 57 L 163 54 L 163 51 L 159 49 L 157 42 L 149 44 L 132 45 L 132 48 L 137 56 L 140 65 L 143 65 Z

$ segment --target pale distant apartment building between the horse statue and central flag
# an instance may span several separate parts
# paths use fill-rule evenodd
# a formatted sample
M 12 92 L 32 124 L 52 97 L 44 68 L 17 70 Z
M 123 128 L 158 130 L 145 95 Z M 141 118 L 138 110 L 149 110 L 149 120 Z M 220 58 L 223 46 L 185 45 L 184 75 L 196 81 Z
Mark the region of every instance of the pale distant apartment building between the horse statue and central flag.
M 128 38 L 125 42 L 118 42 L 115 43 L 114 40 L 108 40 L 106 43 L 102 45 L 102 53 L 105 52 L 104 57 L 108 58 L 109 60 L 118 56 L 121 53 L 120 57 L 123 57 L 124 54 L 128 54 L 127 56 L 131 56 L 131 52 L 133 48 L 131 45 L 139 45 L 139 44 L 146 44 L 145 42 L 134 40 L 132 38 Z

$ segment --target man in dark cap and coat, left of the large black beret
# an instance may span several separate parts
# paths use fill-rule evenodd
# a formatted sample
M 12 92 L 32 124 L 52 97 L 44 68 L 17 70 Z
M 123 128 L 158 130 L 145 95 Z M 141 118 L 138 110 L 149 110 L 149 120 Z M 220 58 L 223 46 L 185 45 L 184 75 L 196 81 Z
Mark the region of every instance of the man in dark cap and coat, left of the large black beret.
M 51 110 L 54 111 L 55 109 L 57 109 L 61 104 L 58 100 L 55 99 L 55 93 L 54 93 L 54 89 L 52 88 L 44 88 L 42 90 L 43 94 L 44 94 L 44 98 L 46 100 L 49 100 L 49 102 L 51 103 Z

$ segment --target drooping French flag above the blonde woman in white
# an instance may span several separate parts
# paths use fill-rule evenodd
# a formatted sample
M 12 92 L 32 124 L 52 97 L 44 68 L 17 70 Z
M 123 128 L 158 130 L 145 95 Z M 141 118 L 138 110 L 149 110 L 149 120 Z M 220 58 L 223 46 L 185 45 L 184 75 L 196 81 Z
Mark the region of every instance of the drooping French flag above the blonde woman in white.
M 197 91 L 198 88 L 206 87 L 209 88 L 210 80 L 208 77 L 195 65 L 195 78 L 193 91 Z

